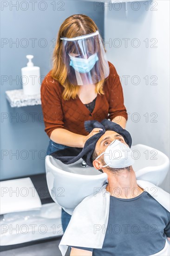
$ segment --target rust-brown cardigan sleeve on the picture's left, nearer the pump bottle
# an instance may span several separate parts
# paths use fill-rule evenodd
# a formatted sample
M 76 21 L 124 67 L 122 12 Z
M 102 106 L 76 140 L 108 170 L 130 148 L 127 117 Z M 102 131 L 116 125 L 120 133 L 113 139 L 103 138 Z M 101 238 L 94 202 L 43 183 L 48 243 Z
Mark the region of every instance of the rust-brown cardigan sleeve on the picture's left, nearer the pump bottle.
M 50 138 L 52 131 L 56 128 L 64 128 L 63 112 L 57 84 L 48 76 L 41 84 L 41 106 L 44 117 L 45 132 Z

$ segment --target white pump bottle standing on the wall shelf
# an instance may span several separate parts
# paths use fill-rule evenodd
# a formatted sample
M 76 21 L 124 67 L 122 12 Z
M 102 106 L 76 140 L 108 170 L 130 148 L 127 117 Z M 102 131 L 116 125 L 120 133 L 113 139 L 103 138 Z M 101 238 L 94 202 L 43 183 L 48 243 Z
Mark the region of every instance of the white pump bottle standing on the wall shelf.
M 22 88 L 25 95 L 40 94 L 40 68 L 33 66 L 33 55 L 26 55 L 27 67 L 21 68 Z

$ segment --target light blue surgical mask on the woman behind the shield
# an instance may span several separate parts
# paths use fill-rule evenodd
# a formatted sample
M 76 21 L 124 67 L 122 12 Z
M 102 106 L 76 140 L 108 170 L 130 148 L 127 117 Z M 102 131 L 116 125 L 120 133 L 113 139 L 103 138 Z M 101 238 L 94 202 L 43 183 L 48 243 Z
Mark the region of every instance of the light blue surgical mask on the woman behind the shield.
M 76 58 L 69 54 L 70 56 L 70 66 L 72 66 L 79 73 L 89 72 L 98 61 L 98 55 L 95 53 L 91 55 L 88 59 Z

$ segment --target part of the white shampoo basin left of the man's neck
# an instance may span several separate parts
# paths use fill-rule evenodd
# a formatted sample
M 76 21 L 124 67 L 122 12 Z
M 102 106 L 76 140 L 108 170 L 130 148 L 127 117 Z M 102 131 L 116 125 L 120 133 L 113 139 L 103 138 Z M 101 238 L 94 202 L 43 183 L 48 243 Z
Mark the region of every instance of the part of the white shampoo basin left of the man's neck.
M 83 159 L 64 164 L 51 155 L 46 156 L 46 181 L 49 193 L 68 214 L 87 196 L 101 188 L 107 174 L 93 167 L 81 167 Z

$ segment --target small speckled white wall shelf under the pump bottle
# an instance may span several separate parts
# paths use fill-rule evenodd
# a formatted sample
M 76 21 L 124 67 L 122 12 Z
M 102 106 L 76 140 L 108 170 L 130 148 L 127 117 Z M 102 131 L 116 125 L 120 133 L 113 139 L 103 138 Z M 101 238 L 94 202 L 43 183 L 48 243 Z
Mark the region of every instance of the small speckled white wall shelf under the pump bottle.
M 5 93 L 11 108 L 41 105 L 40 94 L 25 95 L 23 89 L 9 90 Z

